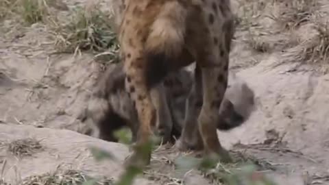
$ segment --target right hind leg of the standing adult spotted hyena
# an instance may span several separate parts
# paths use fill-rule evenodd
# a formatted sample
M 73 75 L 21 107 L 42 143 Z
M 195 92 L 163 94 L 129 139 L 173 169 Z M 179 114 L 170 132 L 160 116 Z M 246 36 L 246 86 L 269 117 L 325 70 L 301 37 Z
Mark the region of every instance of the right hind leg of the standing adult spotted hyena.
M 202 67 L 203 105 L 199 114 L 199 131 L 204 143 L 204 151 L 220 160 L 229 162 L 232 159 L 226 149 L 221 146 L 217 136 L 217 126 L 221 118 L 219 109 L 228 86 L 228 55 L 221 58 L 221 65 Z

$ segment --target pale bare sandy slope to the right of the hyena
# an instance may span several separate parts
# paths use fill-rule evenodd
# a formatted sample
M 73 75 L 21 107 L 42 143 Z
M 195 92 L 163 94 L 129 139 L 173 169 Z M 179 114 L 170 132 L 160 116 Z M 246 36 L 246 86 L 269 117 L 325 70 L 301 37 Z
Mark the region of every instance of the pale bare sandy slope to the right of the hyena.
M 258 110 L 220 138 L 227 147 L 245 149 L 310 182 L 329 184 L 329 75 L 312 71 L 313 66 L 305 66 L 309 71 L 296 71 L 296 64 L 273 67 L 276 60 L 280 57 L 274 55 L 239 72 L 255 90 Z

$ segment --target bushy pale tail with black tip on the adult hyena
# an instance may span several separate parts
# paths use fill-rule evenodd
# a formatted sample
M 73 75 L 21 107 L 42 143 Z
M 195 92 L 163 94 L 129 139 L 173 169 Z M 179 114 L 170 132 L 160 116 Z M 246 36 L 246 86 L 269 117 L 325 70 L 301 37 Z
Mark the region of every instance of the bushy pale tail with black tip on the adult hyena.
M 169 73 L 173 62 L 182 52 L 187 13 L 179 1 L 167 1 L 152 23 L 145 42 L 145 79 L 148 88 L 158 84 Z

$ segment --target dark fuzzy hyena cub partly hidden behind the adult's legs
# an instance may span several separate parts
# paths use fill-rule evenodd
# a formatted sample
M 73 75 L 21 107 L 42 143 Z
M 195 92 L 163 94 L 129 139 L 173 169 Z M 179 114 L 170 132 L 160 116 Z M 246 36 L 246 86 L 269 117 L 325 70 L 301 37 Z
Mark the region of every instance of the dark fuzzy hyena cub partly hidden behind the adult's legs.
M 254 110 L 253 91 L 232 73 L 229 79 L 228 90 L 219 111 L 223 119 L 223 122 L 217 125 L 219 130 L 228 130 L 241 125 Z M 122 127 L 129 127 L 132 131 L 132 141 L 136 141 L 139 124 L 132 99 L 124 88 L 124 80 L 123 65 L 112 64 L 101 76 L 92 97 L 90 97 L 86 116 L 91 119 L 92 124 L 95 124 L 93 132 L 97 138 L 117 142 L 114 132 Z M 182 69 L 179 73 L 167 76 L 163 84 L 162 93 L 166 97 L 163 101 L 167 101 L 164 105 L 169 108 L 158 111 L 157 123 L 173 124 L 167 126 L 172 127 L 170 141 L 173 142 L 175 138 L 180 137 L 182 132 L 186 99 L 193 87 L 193 72 Z M 164 122 L 166 120 L 164 116 L 171 116 L 172 122 Z M 186 136 L 188 140 L 184 140 L 184 143 L 193 143 L 195 140 L 193 132 L 198 132 L 198 130 L 189 128 L 189 135 Z

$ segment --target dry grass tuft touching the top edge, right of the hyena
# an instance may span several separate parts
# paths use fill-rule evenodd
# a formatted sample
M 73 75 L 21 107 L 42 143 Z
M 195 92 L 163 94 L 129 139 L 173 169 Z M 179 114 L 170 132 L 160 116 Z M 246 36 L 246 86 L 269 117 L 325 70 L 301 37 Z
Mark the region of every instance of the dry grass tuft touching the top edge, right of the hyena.
M 292 0 L 284 1 L 280 8 L 280 15 L 270 16 L 284 29 L 292 30 L 300 27 L 303 23 L 309 22 L 318 8 L 316 0 Z

